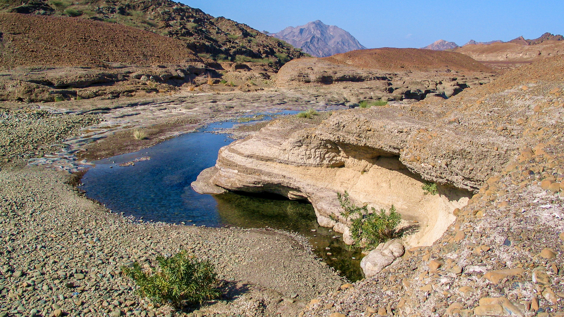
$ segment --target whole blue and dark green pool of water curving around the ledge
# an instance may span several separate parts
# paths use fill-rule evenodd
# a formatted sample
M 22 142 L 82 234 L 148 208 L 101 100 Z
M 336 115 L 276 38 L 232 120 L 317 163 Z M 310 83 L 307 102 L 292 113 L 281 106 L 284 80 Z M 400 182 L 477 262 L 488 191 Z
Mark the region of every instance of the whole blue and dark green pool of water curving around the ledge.
M 262 118 L 269 120 L 271 115 Z M 192 190 L 190 183 L 200 171 L 215 165 L 219 148 L 232 142 L 226 134 L 210 132 L 230 128 L 234 123 L 209 125 L 138 152 L 95 161 L 95 166 L 82 177 L 81 188 L 86 196 L 102 202 L 113 212 L 143 221 L 207 227 L 271 227 L 298 232 L 309 238 L 313 252 L 327 265 L 351 281 L 362 279 L 359 250 L 346 246 L 341 234 L 319 227 L 308 202 L 233 192 L 201 195 Z M 150 159 L 142 160 L 147 157 Z M 138 161 L 119 166 L 134 160 Z

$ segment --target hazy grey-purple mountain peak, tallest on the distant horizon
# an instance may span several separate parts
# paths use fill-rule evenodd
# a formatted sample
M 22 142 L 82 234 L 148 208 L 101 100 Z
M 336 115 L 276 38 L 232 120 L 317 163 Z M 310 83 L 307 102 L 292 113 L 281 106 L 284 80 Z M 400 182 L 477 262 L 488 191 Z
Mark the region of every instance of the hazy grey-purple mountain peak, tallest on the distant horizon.
M 287 27 L 280 32 L 269 33 L 269 35 L 283 39 L 316 57 L 366 49 L 349 32 L 335 25 L 326 25 L 320 20 L 295 28 Z

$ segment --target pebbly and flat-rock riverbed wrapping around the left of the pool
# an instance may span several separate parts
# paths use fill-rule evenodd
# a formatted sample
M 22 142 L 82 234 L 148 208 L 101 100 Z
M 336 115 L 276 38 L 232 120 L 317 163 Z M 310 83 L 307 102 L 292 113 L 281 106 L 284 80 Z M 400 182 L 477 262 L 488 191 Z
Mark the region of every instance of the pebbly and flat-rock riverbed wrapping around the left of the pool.
M 177 315 L 291 316 L 311 298 L 346 283 L 314 257 L 301 236 L 146 223 L 112 213 L 71 185 L 78 178 L 68 171 L 86 162 L 77 153 L 103 156 L 99 149 L 116 139 L 122 142 L 113 150 L 128 151 L 205 122 L 272 109 L 273 103 L 289 103 L 284 108 L 290 109 L 328 105 L 315 98 L 283 102 L 288 96 L 276 93 L 192 98 L 186 96 L 184 104 L 166 97 L 114 104 L 116 109 L 66 103 L 67 109 L 26 104 L 2 111 L 0 132 L 10 142 L 3 144 L 0 163 L 0 316 L 168 315 L 137 297 L 120 267 L 180 249 L 214 263 L 224 296 Z M 187 122 L 190 116 L 197 120 Z M 156 129 L 148 140 L 131 137 L 131 129 L 147 126 L 170 129 Z

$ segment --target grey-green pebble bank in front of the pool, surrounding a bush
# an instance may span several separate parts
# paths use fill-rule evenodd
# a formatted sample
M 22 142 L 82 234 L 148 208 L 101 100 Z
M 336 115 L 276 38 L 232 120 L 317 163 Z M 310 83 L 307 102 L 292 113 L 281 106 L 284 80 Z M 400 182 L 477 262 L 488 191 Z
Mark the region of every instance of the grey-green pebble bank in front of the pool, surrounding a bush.
M 199 307 L 208 316 L 295 315 L 345 283 L 300 237 L 143 223 L 86 199 L 65 178 L 35 168 L 0 171 L 0 316 L 164 315 L 134 295 L 120 267 L 180 249 L 211 259 L 223 281 L 224 302 Z

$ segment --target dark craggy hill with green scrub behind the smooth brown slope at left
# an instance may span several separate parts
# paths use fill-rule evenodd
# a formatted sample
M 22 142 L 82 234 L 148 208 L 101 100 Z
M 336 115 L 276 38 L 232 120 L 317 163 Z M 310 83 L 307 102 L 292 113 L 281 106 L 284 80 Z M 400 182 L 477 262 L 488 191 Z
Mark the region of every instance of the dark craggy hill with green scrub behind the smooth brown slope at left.
M 148 30 L 178 39 L 201 57 L 219 61 L 254 60 L 281 65 L 304 55 L 248 25 L 213 17 L 170 0 L 17 0 L 7 3 L 4 12 L 72 16 Z

